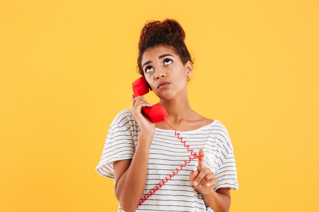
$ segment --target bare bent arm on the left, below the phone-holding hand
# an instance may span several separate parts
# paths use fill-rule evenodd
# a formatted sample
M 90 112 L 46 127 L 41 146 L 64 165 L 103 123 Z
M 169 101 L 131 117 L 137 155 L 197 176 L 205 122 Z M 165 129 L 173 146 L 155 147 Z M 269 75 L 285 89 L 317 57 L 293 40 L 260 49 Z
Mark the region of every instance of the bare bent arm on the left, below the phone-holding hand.
M 152 136 L 138 136 L 138 145 L 134 157 L 130 160 L 115 161 L 113 163 L 115 175 L 115 196 L 121 208 L 127 212 L 135 211 L 143 195 L 149 150 Z M 132 192 L 134 191 L 134 192 Z

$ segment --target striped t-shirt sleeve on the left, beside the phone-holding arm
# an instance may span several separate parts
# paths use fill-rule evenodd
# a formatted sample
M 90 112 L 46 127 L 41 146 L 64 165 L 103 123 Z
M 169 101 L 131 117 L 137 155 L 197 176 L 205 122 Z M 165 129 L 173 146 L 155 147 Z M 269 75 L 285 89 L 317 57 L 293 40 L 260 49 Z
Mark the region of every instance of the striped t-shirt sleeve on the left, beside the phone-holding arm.
M 115 179 L 113 162 L 132 159 L 135 153 L 134 139 L 132 137 L 130 110 L 122 110 L 114 118 L 108 130 L 101 159 L 95 167 L 96 171 L 105 177 Z

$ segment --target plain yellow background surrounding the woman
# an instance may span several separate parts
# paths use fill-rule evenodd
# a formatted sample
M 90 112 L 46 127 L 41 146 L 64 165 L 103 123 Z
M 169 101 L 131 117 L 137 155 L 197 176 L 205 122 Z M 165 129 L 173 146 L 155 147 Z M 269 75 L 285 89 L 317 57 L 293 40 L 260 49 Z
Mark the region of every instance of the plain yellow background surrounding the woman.
M 319 3 L 277 0 L 0 1 L 0 211 L 117 211 L 95 166 L 140 31 L 167 17 L 195 58 L 191 107 L 232 140 L 230 211 L 319 211 Z

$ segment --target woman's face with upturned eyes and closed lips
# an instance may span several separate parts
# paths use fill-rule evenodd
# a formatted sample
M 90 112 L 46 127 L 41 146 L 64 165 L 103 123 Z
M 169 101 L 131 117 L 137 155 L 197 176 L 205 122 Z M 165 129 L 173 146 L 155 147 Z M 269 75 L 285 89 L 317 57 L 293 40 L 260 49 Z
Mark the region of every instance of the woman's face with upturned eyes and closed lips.
M 170 100 L 187 93 L 187 77 L 193 73 L 193 64 L 188 61 L 183 65 L 173 49 L 164 45 L 148 48 L 141 62 L 145 79 L 157 97 Z M 163 81 L 169 82 L 168 86 L 158 87 Z

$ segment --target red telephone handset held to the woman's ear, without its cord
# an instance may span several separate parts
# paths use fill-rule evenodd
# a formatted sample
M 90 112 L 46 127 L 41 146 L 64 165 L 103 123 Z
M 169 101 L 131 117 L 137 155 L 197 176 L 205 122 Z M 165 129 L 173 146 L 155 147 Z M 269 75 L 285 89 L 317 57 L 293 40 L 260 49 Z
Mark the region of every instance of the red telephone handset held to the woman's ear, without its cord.
M 140 77 L 132 83 L 133 93 L 135 97 L 143 96 L 149 92 L 145 77 Z M 165 107 L 157 103 L 152 107 L 142 107 L 142 113 L 152 122 L 163 122 L 168 118 Z

